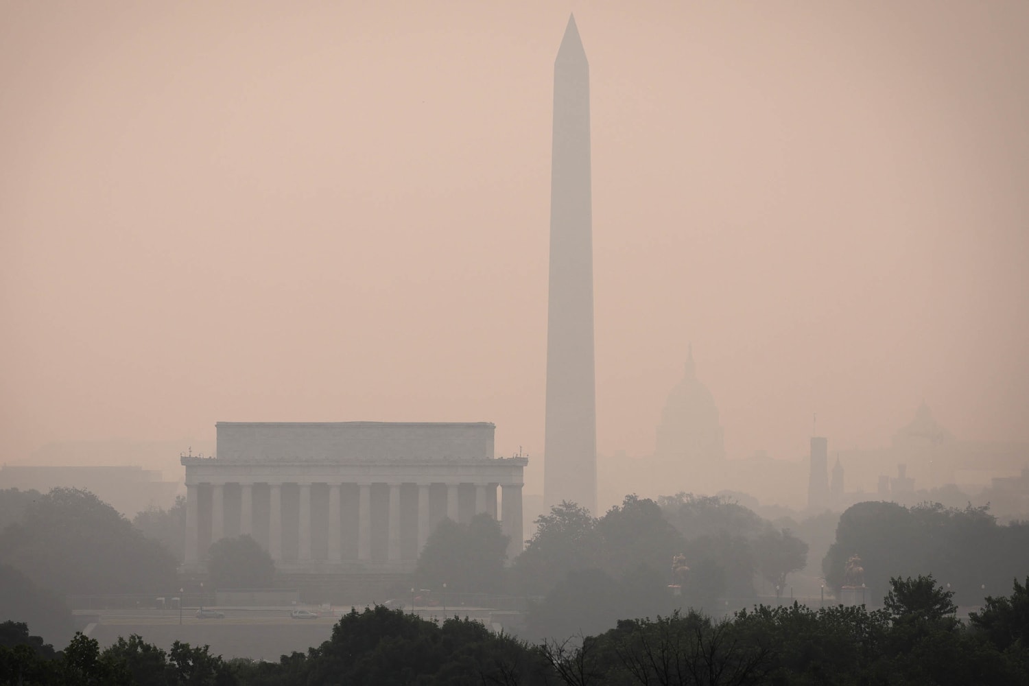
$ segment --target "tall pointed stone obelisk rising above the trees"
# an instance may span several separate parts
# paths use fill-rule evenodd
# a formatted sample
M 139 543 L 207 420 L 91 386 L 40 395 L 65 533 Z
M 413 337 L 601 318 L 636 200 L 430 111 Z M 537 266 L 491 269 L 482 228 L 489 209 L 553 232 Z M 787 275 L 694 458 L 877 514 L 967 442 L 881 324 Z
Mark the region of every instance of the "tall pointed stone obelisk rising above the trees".
M 554 63 L 552 155 L 543 503 L 597 514 L 590 64 L 574 16 Z

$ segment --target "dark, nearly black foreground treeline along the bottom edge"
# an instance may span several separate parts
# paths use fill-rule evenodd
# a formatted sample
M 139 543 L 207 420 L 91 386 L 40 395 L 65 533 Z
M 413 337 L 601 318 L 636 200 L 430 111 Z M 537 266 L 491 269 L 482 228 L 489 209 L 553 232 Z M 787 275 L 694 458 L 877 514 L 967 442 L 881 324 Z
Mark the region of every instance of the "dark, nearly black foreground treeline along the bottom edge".
M 58 653 L 24 624 L 0 625 L 0 683 L 115 684 L 966 684 L 1029 683 L 1029 578 L 968 623 L 930 577 L 890 580 L 881 610 L 757 606 L 716 621 L 694 612 L 627 619 L 596 636 L 533 645 L 457 617 L 441 624 L 382 606 L 279 662 L 171 651 L 139 637 L 101 651 L 76 635 Z

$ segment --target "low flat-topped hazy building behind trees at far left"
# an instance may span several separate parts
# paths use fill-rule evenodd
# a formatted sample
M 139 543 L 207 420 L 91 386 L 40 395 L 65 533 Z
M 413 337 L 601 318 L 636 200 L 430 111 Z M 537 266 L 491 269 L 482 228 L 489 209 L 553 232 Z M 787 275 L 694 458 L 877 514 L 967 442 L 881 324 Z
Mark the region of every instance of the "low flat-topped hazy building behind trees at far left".
M 162 480 L 159 471 L 139 466 L 6 465 L 0 468 L 0 489 L 40 493 L 50 489 L 82 489 L 129 518 L 149 507 L 171 507 L 180 488 L 179 482 Z

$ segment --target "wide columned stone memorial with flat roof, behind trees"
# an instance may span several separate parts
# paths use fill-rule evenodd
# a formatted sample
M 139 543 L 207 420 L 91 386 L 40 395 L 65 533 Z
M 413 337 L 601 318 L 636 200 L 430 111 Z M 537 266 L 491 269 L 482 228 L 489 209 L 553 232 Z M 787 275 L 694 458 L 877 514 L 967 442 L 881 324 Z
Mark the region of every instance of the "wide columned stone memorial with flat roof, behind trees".
M 248 534 L 288 573 L 409 573 L 443 518 L 485 512 L 522 551 L 527 458 L 495 458 L 496 427 L 219 422 L 214 458 L 183 457 L 184 571 Z M 498 507 L 499 501 L 499 507 Z

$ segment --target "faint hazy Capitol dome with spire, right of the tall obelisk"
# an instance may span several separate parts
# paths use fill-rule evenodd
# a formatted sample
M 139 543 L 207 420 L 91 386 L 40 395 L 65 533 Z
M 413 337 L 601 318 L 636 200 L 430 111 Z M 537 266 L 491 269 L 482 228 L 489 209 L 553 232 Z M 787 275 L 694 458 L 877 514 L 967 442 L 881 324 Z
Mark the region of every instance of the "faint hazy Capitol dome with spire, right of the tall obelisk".
M 682 381 L 668 395 L 658 425 L 654 456 L 662 462 L 704 465 L 725 458 L 725 445 L 714 396 L 697 378 L 689 347 Z

